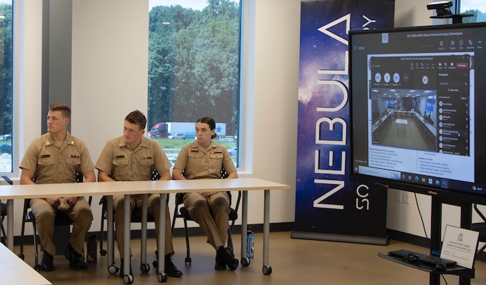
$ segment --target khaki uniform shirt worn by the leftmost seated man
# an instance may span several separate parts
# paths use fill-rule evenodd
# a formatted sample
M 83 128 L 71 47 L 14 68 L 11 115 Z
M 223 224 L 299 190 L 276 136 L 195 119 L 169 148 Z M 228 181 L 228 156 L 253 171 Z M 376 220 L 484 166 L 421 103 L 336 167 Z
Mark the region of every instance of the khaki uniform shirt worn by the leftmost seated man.
M 60 147 L 50 133 L 34 140 L 28 147 L 20 168 L 34 172 L 36 184 L 74 183 L 76 172 L 94 170 L 90 152 L 83 140 L 67 132 Z

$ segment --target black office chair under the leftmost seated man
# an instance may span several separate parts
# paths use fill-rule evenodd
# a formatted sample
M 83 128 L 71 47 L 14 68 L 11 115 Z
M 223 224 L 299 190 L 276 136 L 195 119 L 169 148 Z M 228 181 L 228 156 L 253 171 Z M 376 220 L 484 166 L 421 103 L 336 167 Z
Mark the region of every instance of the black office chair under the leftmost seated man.
M 83 173 L 78 172 L 76 173 L 76 178 L 75 178 L 76 183 L 81 183 L 83 182 Z M 92 197 L 90 196 L 88 199 L 88 204 L 91 206 L 91 201 Z M 34 242 L 34 253 L 35 253 L 35 265 L 34 269 L 37 271 L 40 271 L 41 266 L 39 264 L 39 250 L 37 248 L 37 244 L 39 241 L 37 240 L 37 227 L 35 223 L 35 216 L 32 213 L 32 211 L 28 211 L 31 208 L 31 199 L 24 199 L 24 211 L 22 217 L 22 229 L 21 229 L 21 234 L 20 234 L 20 253 L 17 254 L 18 257 L 20 257 L 22 260 L 24 260 L 24 235 L 25 235 L 25 224 L 26 222 L 31 222 L 32 223 L 32 228 L 33 228 L 33 242 Z M 62 211 L 59 211 L 56 213 L 56 218 L 54 219 L 54 225 L 55 227 L 59 226 L 70 226 L 72 225 L 72 220 L 69 218 L 69 215 L 65 214 Z M 42 245 L 41 245 L 42 246 Z M 83 260 L 84 260 L 84 252 L 83 252 Z M 88 265 L 86 262 L 83 263 L 83 268 L 87 268 Z

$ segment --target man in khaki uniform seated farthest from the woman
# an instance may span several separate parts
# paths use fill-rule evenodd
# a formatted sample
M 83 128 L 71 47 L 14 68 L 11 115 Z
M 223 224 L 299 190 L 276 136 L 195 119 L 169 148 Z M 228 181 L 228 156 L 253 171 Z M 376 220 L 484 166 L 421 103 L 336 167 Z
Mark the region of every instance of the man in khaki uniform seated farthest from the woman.
M 94 165 L 85 143 L 67 130 L 71 109 L 65 104 L 52 104 L 47 114 L 47 133 L 28 147 L 20 168 L 20 184 L 73 183 L 76 173 L 82 172 L 85 182 L 94 182 Z M 69 190 L 69 186 L 66 186 Z M 56 246 L 52 242 L 54 219 L 63 211 L 73 220 L 72 234 L 67 246 L 69 268 L 82 268 L 83 245 L 91 227 L 93 215 L 84 197 L 50 197 L 31 199 L 37 233 L 44 246 L 41 270 L 53 270 Z

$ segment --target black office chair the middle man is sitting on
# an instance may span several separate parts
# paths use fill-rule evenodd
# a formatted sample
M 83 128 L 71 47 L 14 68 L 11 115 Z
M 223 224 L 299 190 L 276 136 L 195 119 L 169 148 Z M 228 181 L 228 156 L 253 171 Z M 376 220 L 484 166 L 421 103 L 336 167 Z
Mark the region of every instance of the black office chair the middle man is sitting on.
M 156 181 L 158 179 L 160 179 L 160 174 L 157 172 L 157 170 L 154 169 L 152 172 L 151 180 Z M 167 195 L 167 202 L 169 202 L 169 195 Z M 101 199 L 99 200 L 99 204 L 101 205 L 101 229 L 100 229 L 101 238 L 99 242 L 99 254 L 105 256 L 107 251 L 103 248 L 103 240 L 105 239 L 104 220 L 108 220 L 108 211 L 107 211 L 108 205 L 106 203 L 106 196 L 101 197 Z M 142 211 L 140 209 L 133 209 L 132 218 L 130 222 L 138 222 L 138 223 L 142 222 Z M 156 218 L 154 218 L 153 215 L 147 214 L 147 222 L 156 222 Z M 112 249 L 112 254 L 115 254 L 113 250 L 114 249 Z M 158 255 L 157 251 L 156 251 L 156 255 Z M 114 260 L 113 262 L 115 262 L 115 259 L 113 260 Z M 157 260 L 153 261 L 152 264 L 154 267 L 157 267 L 158 261 Z M 118 272 L 119 268 L 117 268 L 116 266 L 113 268 L 114 269 L 112 273 Z M 142 272 L 149 272 L 150 266 L 148 265 L 148 263 L 145 263 L 145 261 L 142 260 L 140 264 L 140 270 Z

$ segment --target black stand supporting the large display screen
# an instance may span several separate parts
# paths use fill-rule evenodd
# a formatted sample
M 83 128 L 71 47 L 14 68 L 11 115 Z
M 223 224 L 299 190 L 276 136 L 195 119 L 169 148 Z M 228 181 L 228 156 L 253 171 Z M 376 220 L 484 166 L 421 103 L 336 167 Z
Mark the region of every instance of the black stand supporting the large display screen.
M 442 204 L 460 206 L 461 225 L 464 229 L 471 229 L 472 222 L 472 204 L 470 202 L 458 202 L 441 197 L 432 196 L 431 215 L 430 215 L 430 253 L 440 252 L 442 248 Z M 474 268 L 462 270 L 459 275 L 459 284 L 471 284 L 471 278 L 474 278 Z M 440 284 L 440 273 L 430 272 L 430 285 Z

